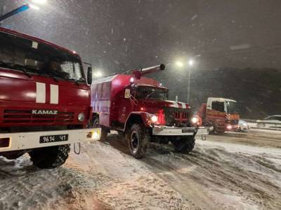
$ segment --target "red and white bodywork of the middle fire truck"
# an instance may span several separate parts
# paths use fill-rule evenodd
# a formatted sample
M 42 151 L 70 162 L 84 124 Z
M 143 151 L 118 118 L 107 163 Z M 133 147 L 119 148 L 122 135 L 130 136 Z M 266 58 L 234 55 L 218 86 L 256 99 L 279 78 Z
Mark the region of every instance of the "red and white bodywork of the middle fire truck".
M 134 102 L 133 100 L 125 99 L 126 88 L 124 87 L 131 85 L 131 78 L 131 75 L 117 74 L 93 82 L 91 86 L 91 106 L 93 107 L 93 112 L 100 115 L 100 125 L 114 127 L 119 124 L 122 125 L 119 128 L 124 130 L 124 125 L 132 113 L 157 113 L 159 116 L 162 115 L 157 124 L 166 125 L 164 107 L 178 109 L 178 113 L 176 111 L 172 113 L 178 123 L 189 123 L 189 104 L 168 100 L 141 99 L 137 100 L 138 102 Z M 157 80 L 152 78 L 142 77 L 136 80 L 135 85 L 167 90 L 166 87 L 162 87 Z

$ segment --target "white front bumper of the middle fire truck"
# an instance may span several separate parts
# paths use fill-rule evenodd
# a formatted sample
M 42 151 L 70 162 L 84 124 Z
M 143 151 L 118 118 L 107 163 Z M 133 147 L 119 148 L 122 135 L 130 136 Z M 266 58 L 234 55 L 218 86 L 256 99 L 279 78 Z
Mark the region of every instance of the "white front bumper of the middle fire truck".
M 152 127 L 153 136 L 194 136 L 197 133 L 197 127 L 167 127 L 154 126 Z

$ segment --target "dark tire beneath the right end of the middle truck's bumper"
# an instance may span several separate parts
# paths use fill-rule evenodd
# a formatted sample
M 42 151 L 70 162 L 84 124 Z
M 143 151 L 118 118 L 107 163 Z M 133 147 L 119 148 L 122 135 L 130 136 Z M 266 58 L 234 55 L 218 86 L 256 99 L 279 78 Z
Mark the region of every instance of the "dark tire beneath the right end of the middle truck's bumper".
M 173 141 L 177 153 L 190 153 L 195 146 L 195 137 L 186 137 Z

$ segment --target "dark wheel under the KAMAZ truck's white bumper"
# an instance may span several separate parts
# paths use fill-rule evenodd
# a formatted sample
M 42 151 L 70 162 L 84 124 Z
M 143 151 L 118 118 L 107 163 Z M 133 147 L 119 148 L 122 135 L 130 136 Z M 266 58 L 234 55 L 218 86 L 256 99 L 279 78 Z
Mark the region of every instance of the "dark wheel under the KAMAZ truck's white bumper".
M 39 148 L 28 153 L 33 165 L 39 169 L 54 169 L 65 163 L 70 153 L 70 145 Z

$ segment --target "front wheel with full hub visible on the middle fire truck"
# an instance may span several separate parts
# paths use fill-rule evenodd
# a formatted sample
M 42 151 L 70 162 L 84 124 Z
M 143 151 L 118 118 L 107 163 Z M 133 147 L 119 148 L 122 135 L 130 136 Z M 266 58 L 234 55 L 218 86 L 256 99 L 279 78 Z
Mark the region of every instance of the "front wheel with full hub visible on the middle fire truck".
M 131 155 L 134 158 L 143 158 L 148 149 L 149 135 L 145 128 L 138 124 L 133 124 L 126 135 Z

